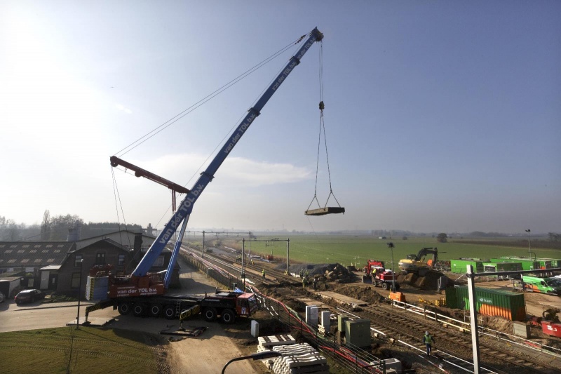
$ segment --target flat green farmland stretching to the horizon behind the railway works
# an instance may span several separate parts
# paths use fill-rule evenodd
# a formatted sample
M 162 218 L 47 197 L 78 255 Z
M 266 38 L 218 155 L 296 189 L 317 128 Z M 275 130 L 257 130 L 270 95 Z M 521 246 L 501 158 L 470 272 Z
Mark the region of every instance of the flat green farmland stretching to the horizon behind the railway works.
M 262 237 L 257 240 L 277 238 L 278 236 Z M 278 237 L 281 241 L 245 241 L 245 251 L 261 255 L 273 255 L 275 258 L 286 258 L 286 239 L 290 239 L 290 261 L 308 263 L 333 263 L 343 265 L 363 266 L 367 259 L 376 259 L 391 264 L 391 251 L 387 243 L 394 243 L 393 262 L 395 267 L 398 261 L 409 254 L 417 254 L 421 248 L 437 247 L 440 260 L 454 258 L 482 258 L 489 259 L 506 255 L 528 256 L 527 246 L 520 245 L 520 238 L 508 241 L 501 238 L 497 241 L 489 238 L 477 241 L 450 241 L 438 243 L 436 238 L 427 236 L 409 237 L 403 239 L 378 239 L 377 236 L 344 236 L 344 235 L 294 235 Z M 241 249 L 241 238 L 218 239 L 225 246 Z M 216 240 L 215 240 L 216 241 Z M 541 241 L 543 244 L 545 241 Z M 199 241 L 200 243 L 200 241 Z M 207 246 L 211 244 L 205 241 Z M 552 243 L 553 247 L 553 243 Z M 556 248 L 532 248 L 532 256 L 538 258 L 561 258 L 561 250 Z

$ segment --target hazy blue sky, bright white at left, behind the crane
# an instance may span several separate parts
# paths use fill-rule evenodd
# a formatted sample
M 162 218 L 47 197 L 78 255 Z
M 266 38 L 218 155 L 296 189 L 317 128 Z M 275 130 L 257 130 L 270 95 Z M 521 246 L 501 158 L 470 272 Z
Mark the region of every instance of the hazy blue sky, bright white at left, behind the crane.
M 561 231 L 560 1 L 0 2 L 0 215 L 163 227 L 109 156 L 318 27 L 189 228 Z M 191 188 L 295 48 L 122 156 Z M 322 146 L 323 147 L 323 146 Z M 329 185 L 320 152 L 318 199 Z M 337 205 L 331 199 L 330 204 Z M 316 206 L 313 206 L 316 207 Z

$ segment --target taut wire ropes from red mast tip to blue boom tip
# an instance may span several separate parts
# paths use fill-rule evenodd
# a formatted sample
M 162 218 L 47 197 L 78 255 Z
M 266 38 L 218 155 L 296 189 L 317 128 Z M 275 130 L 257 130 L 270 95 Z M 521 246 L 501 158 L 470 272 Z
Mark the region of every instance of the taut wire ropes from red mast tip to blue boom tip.
M 179 114 L 176 114 L 175 116 L 173 116 L 172 118 L 168 119 L 168 121 L 165 121 L 164 123 L 162 123 L 160 126 L 154 128 L 154 130 L 150 131 L 149 133 L 143 135 L 142 137 L 138 138 L 137 140 L 135 140 L 134 142 L 130 143 L 130 145 L 127 145 L 126 147 L 124 147 L 123 149 L 121 149 L 119 152 L 116 152 L 116 156 L 117 155 L 123 155 L 123 154 L 127 154 L 128 152 L 130 152 L 131 150 L 135 149 L 136 147 L 138 147 L 139 145 L 141 145 L 142 143 L 144 143 L 145 141 L 149 140 L 150 138 L 152 138 L 154 135 L 157 135 L 158 133 L 160 133 L 161 131 L 163 131 L 165 128 L 168 128 L 169 126 L 173 125 L 173 123 L 179 121 L 180 119 L 182 119 L 184 116 L 187 116 L 187 114 L 193 112 L 195 109 L 197 109 L 198 107 L 201 107 L 201 105 L 205 104 L 206 102 L 212 100 L 212 98 L 215 98 L 217 95 L 219 95 L 220 93 L 226 91 L 228 88 L 230 88 L 231 86 L 234 86 L 234 84 L 238 83 L 239 81 L 241 81 L 242 79 L 244 79 L 245 77 L 249 76 L 250 74 L 256 72 L 258 69 L 260 69 L 261 67 L 263 67 L 264 65 L 266 65 L 267 63 L 271 62 L 272 60 L 274 60 L 275 58 L 277 58 L 279 55 L 281 55 L 282 53 L 284 53 L 285 51 L 287 51 L 289 48 L 291 48 L 294 44 L 297 44 L 300 40 L 302 40 L 304 38 L 304 36 L 301 36 L 299 39 L 297 39 L 297 41 L 293 41 L 290 44 L 288 44 L 288 46 L 285 46 L 283 48 L 280 49 L 280 51 L 277 51 L 276 53 L 273 53 L 273 55 L 270 55 L 268 58 L 262 60 L 261 62 L 259 62 L 257 65 L 251 67 L 250 69 L 246 70 L 245 72 L 243 72 L 242 74 L 236 76 L 236 78 L 232 79 L 231 81 L 229 81 L 227 84 L 224 84 L 224 86 L 218 88 L 217 90 L 213 91 L 212 93 L 206 95 L 204 98 L 202 98 L 201 100 L 198 100 L 198 102 L 195 102 L 193 105 L 191 105 L 190 107 L 188 107 L 187 109 L 184 109 L 182 112 L 180 112 Z

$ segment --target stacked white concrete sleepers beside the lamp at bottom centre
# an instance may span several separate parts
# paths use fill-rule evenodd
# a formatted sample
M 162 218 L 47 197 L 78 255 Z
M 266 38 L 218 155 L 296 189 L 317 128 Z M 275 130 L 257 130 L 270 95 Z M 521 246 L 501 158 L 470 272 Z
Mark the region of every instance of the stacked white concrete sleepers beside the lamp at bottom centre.
M 276 374 L 318 373 L 329 374 L 327 359 L 308 343 L 296 344 L 292 335 L 259 337 L 257 353 L 274 351 L 281 354 L 263 363 Z

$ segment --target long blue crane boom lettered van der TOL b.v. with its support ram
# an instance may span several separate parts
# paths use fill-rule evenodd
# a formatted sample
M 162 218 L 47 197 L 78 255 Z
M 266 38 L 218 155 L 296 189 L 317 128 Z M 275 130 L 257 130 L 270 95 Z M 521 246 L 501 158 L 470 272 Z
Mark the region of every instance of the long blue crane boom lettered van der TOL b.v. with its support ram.
M 309 50 L 309 48 L 311 48 L 312 44 L 316 41 L 321 41 L 322 39 L 323 34 L 318 30 L 317 27 L 311 31 L 308 39 L 306 39 L 302 47 L 299 48 L 297 53 L 292 56 L 292 58 L 290 58 L 288 64 L 285 66 L 282 72 L 278 74 L 276 79 L 274 79 L 269 88 L 266 89 L 261 98 L 259 98 L 255 105 L 248 110 L 247 116 L 245 116 L 245 118 L 241 121 L 236 130 L 234 130 L 229 139 L 222 146 L 222 149 L 220 149 L 212 162 L 210 162 L 208 168 L 206 168 L 206 170 L 201 173 L 201 176 L 195 182 L 193 188 L 191 188 L 191 191 L 189 191 L 187 196 L 185 196 L 185 199 L 182 201 L 179 208 L 177 208 L 177 211 L 175 212 L 173 217 L 170 219 L 168 224 L 165 225 L 161 234 L 158 235 L 147 253 L 144 255 L 142 260 L 140 260 L 137 267 L 133 270 L 132 276 L 145 276 L 147 274 L 150 267 L 154 264 L 154 262 L 156 262 L 158 256 L 161 255 L 163 249 L 168 244 L 173 234 L 176 232 L 178 227 L 182 225 L 180 229 L 180 235 L 178 236 L 172 256 L 170 258 L 168 271 L 166 272 L 164 277 L 165 288 L 168 288 L 171 274 L 173 273 L 173 267 L 175 267 L 175 262 L 177 261 L 177 254 L 179 253 L 179 249 L 181 246 L 182 236 L 185 232 L 185 228 L 187 227 L 189 215 L 191 215 L 191 211 L 193 211 L 194 203 L 197 201 L 198 197 L 201 196 L 201 193 L 204 191 L 205 187 L 207 187 L 208 183 L 212 181 L 212 178 L 214 178 L 216 171 L 222 165 L 232 149 L 234 149 L 236 144 L 238 144 L 242 135 L 245 134 L 246 131 L 248 131 L 250 125 L 253 123 L 253 121 L 255 121 L 257 116 L 259 116 L 264 105 L 277 91 L 280 84 L 285 81 L 288 74 L 292 72 L 292 69 L 294 69 L 300 63 L 300 60 Z

